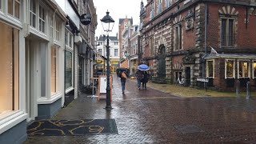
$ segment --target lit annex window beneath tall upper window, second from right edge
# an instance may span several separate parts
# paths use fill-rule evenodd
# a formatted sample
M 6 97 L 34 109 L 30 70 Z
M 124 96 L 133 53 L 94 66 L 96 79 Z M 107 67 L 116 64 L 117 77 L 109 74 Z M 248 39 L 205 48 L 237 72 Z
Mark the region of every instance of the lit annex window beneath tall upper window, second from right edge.
M 250 62 L 238 62 L 238 78 L 250 77 Z

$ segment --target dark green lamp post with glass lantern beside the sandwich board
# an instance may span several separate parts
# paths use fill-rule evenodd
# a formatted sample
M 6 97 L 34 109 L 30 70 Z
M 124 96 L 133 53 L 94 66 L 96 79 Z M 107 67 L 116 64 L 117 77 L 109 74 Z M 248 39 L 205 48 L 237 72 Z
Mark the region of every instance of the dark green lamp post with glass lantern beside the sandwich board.
M 103 30 L 106 31 L 106 110 L 112 110 L 110 99 L 110 41 L 109 32 L 114 26 L 114 19 L 110 17 L 110 12 L 106 11 L 106 15 L 101 19 Z

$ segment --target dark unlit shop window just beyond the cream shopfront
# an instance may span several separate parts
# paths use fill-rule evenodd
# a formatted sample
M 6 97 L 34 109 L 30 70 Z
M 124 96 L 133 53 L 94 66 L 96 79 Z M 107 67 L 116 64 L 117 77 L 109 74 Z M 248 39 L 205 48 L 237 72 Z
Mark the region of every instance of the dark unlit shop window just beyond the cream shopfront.
M 66 58 L 65 58 L 65 88 L 68 89 L 73 87 L 73 53 L 66 50 Z

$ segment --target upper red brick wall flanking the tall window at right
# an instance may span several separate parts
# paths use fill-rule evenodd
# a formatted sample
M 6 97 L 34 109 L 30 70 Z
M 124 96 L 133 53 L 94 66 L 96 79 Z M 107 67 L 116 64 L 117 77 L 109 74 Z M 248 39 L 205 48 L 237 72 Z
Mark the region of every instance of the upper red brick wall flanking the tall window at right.
M 207 46 L 213 46 L 215 48 L 220 47 L 220 17 L 218 14 L 218 10 L 222 9 L 222 6 L 228 6 L 225 4 L 218 3 L 210 3 L 208 5 L 209 8 L 209 24 L 207 26 Z M 231 6 L 232 9 L 233 6 Z M 235 10 L 239 12 L 238 14 L 238 29 L 235 38 L 235 43 L 238 48 L 254 48 L 256 46 L 256 29 L 255 29 L 255 21 L 256 17 L 254 13 L 250 15 L 249 23 L 246 29 L 246 7 L 245 6 L 234 6 Z

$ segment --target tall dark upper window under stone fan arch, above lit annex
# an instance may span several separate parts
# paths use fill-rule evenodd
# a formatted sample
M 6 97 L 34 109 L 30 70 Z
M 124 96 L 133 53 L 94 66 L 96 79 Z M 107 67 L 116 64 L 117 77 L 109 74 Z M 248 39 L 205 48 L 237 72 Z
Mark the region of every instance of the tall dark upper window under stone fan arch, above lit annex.
M 234 47 L 234 19 L 222 18 L 222 47 Z

